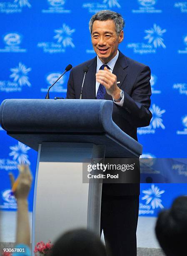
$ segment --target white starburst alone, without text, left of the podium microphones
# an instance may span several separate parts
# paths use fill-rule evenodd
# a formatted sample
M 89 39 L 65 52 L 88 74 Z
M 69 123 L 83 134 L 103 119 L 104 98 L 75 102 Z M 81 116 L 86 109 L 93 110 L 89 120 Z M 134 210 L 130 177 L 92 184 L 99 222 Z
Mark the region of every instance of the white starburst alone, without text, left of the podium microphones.
M 27 73 L 30 72 L 31 68 L 27 68 L 24 64 L 19 62 L 18 67 L 10 69 L 12 74 L 10 78 L 14 78 L 14 82 L 18 82 L 20 86 L 27 84 L 31 86 Z

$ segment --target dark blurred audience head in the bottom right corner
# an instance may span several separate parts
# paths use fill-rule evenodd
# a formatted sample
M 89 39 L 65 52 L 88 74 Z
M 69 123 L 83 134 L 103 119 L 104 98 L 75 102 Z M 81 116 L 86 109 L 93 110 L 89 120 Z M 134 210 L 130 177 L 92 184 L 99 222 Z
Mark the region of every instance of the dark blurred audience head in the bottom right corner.
M 187 255 L 187 196 L 177 197 L 158 215 L 155 232 L 167 256 Z

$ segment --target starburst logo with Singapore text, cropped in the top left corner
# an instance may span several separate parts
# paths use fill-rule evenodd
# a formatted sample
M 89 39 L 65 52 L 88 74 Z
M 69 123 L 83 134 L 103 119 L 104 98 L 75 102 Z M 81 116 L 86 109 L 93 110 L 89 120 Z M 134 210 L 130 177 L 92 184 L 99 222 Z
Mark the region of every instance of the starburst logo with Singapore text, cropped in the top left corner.
M 31 8 L 30 0 L 0 1 L 0 13 L 22 13 L 25 8 Z

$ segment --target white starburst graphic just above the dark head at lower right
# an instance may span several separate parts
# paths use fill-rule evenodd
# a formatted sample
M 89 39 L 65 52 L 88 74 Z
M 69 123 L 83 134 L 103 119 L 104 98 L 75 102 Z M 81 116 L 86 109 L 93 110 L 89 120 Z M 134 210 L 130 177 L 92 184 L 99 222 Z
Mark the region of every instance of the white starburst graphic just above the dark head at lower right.
M 164 206 L 162 205 L 162 200 L 160 199 L 161 195 L 165 192 L 165 190 L 161 190 L 155 186 L 154 184 L 151 185 L 150 189 L 147 190 L 142 190 L 142 193 L 145 194 L 144 197 L 142 197 L 142 200 L 146 200 L 146 205 L 148 205 L 150 203 L 150 205 L 152 206 L 152 209 L 155 208 L 164 208 Z

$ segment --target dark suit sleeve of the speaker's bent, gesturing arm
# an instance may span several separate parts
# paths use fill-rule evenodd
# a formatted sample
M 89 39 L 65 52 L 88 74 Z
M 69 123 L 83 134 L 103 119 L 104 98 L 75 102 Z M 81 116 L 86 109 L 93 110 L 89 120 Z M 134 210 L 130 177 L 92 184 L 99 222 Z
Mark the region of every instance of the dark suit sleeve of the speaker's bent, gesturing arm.
M 143 67 L 137 75 L 132 95 L 124 92 L 124 103 L 122 107 L 118 107 L 120 115 L 136 127 L 148 126 L 152 118 L 152 113 L 149 110 L 151 104 L 150 78 L 150 68 Z

